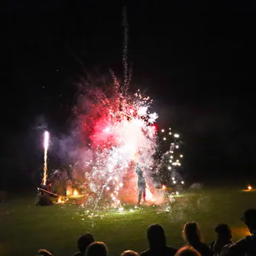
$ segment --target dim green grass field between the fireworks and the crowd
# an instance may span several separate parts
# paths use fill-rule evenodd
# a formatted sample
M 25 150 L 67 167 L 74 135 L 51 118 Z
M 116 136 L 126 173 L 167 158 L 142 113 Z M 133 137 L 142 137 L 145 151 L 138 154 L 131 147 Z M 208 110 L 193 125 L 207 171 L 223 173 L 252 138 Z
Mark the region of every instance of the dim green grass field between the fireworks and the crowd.
M 256 206 L 256 193 L 235 189 L 202 190 L 176 198 L 170 207 L 144 206 L 134 212 L 109 212 L 103 219 L 89 219 L 77 205 L 34 206 L 34 199 L 11 199 L 0 203 L 0 254 L 35 255 L 47 248 L 59 256 L 76 252 L 76 239 L 91 232 L 104 241 L 110 255 L 147 248 L 146 229 L 152 223 L 163 225 L 168 245 L 183 245 L 181 231 L 189 221 L 199 223 L 203 238 L 214 238 L 214 226 L 220 222 L 232 226 L 234 240 L 248 233 L 239 220 L 245 209 Z M 166 209 L 168 211 L 166 211 Z

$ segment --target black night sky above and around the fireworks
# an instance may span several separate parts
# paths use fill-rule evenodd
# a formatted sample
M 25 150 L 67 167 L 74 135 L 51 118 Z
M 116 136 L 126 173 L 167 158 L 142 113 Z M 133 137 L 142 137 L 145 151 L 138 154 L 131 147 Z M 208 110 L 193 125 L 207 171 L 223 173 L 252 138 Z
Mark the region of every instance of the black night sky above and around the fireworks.
M 68 130 L 84 70 L 122 76 L 124 5 L 133 87 L 147 88 L 160 122 L 182 134 L 190 179 L 255 176 L 254 3 L 10 0 L 1 8 L 2 184 L 33 180 L 34 128 Z

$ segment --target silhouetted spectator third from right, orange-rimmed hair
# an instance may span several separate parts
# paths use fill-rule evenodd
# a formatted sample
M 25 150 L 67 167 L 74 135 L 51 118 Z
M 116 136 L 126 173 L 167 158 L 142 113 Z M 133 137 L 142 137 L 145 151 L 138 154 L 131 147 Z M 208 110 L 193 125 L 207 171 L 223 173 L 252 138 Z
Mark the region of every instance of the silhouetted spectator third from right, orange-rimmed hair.
M 196 251 L 199 251 L 202 256 L 212 256 L 214 255 L 213 251 L 201 241 L 201 236 L 199 232 L 198 225 L 196 222 L 188 222 L 183 227 L 183 238 L 192 246 Z

